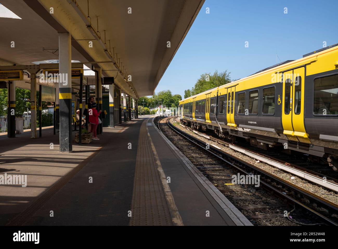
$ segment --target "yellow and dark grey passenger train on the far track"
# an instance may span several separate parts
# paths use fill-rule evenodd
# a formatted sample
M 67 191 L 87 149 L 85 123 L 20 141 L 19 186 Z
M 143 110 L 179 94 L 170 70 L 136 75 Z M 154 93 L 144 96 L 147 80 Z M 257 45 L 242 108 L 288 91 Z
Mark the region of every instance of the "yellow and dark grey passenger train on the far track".
M 284 146 L 338 171 L 338 43 L 186 98 L 178 114 L 233 143 Z

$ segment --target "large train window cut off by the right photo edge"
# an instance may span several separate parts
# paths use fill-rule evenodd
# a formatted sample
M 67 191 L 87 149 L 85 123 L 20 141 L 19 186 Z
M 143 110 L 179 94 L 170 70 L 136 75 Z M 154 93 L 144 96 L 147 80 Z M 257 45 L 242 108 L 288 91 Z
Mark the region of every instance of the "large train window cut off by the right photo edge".
M 338 75 L 314 80 L 313 113 L 338 115 Z

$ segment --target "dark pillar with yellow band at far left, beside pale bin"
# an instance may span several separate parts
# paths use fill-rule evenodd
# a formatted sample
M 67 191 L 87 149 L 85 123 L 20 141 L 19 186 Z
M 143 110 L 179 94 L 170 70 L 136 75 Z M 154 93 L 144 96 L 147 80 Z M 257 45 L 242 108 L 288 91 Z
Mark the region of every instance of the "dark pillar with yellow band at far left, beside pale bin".
M 15 138 L 15 81 L 8 81 L 7 87 L 7 137 Z

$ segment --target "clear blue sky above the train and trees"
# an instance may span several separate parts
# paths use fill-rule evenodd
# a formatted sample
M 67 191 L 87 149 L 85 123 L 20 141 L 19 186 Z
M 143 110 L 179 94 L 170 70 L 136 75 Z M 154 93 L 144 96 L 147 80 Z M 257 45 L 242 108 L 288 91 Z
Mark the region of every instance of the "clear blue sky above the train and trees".
M 205 72 L 228 70 L 239 79 L 276 64 L 276 53 L 281 61 L 294 60 L 323 41 L 338 43 L 337 10 L 337 0 L 206 0 L 155 92 L 184 97 Z

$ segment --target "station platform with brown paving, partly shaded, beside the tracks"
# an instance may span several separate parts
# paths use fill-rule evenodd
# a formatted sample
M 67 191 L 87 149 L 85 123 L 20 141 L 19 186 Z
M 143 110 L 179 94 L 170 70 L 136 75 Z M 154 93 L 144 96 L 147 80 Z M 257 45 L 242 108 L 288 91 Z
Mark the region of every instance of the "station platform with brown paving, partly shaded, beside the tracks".
M 153 116 L 103 128 L 72 153 L 52 132 L 0 136 L 0 174 L 27 175 L 27 187 L 0 185 L 0 225 L 251 225 Z

